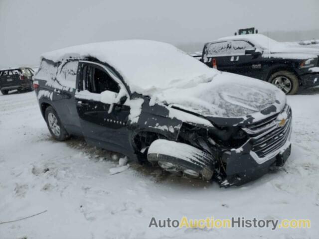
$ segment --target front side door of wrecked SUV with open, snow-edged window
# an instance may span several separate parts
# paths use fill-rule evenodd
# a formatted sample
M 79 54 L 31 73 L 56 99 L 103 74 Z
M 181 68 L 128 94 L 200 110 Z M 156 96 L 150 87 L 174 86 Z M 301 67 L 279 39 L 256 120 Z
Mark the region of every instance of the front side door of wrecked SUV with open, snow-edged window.
M 123 83 L 112 78 L 112 74 L 112 70 L 102 64 L 80 61 L 75 104 L 85 140 L 89 144 L 121 152 L 128 143 L 130 107 L 123 103 L 129 100 L 129 96 Z M 105 91 L 113 95 L 125 91 L 126 99 L 124 102 L 122 99 L 122 103 L 102 103 L 101 93 Z

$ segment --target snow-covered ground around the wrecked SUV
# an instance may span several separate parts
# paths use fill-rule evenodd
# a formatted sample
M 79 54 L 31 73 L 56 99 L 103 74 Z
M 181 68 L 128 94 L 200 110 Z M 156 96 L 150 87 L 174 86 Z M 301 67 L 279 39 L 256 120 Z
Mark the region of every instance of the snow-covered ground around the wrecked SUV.
M 286 165 L 224 189 L 133 162 L 113 174 L 121 171 L 113 153 L 81 138 L 52 140 L 34 92 L 0 94 L 0 239 L 318 238 L 319 88 L 288 101 L 294 119 Z M 311 219 L 312 228 L 148 228 L 152 217 L 182 216 Z

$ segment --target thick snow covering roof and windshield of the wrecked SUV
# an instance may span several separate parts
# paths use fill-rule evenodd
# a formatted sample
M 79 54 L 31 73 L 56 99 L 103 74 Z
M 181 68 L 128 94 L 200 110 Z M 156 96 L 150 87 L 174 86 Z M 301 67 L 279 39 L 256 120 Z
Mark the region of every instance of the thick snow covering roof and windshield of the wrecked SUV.
M 91 56 L 108 63 L 122 75 L 131 92 L 141 94 L 211 80 L 218 72 L 170 44 L 151 40 L 72 46 L 44 53 L 41 58 L 58 62 L 69 56 Z

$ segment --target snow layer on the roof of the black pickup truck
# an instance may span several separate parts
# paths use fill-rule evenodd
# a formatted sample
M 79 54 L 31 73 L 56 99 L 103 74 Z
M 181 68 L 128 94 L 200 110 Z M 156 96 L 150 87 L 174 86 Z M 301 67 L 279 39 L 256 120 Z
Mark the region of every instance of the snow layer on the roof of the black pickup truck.
M 247 34 L 247 35 L 236 35 L 236 36 L 226 36 L 219 38 L 215 41 L 229 41 L 229 40 L 247 40 L 254 44 L 258 44 L 259 46 L 271 49 L 273 47 L 278 47 L 281 43 L 275 41 L 274 39 L 269 38 L 263 34 Z

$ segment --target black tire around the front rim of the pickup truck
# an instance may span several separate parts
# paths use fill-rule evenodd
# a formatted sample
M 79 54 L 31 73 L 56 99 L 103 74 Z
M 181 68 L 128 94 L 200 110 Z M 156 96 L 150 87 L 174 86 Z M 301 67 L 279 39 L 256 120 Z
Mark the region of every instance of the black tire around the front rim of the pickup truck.
M 276 84 L 276 79 L 280 77 L 289 80 L 290 84 L 288 84 L 288 86 L 285 85 L 286 87 L 290 88 L 288 91 L 284 90 L 283 88 L 281 88 L 281 86 L 278 86 L 278 84 Z M 280 88 L 286 95 L 295 95 L 299 90 L 298 77 L 290 71 L 278 71 L 269 77 L 268 82 Z

